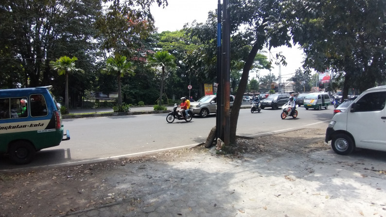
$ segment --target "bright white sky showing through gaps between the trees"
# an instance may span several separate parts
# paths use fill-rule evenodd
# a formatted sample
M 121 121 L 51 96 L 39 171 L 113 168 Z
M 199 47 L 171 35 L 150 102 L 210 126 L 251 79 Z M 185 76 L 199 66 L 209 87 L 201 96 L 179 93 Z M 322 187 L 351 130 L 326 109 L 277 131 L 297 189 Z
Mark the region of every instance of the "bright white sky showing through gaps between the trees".
M 221 1 L 222 2 L 222 1 Z M 169 5 L 165 8 L 153 5 L 151 13 L 155 19 L 155 25 L 158 32 L 176 31 L 183 28 L 184 24 L 192 23 L 196 20 L 198 23 L 205 22 L 208 12 L 217 8 L 218 0 L 168 0 Z M 301 67 L 303 52 L 295 47 L 279 47 L 271 49 L 271 53 L 276 56 L 277 52 L 282 52 L 286 57 L 287 66 L 276 66 L 271 69 L 271 73 L 279 76 L 281 72 L 282 82 L 291 78 L 296 69 Z M 268 52 L 265 55 L 269 55 Z M 269 57 L 269 56 L 268 56 Z M 269 74 L 269 70 L 261 70 L 260 77 Z M 256 73 L 249 73 L 249 79 L 256 77 Z

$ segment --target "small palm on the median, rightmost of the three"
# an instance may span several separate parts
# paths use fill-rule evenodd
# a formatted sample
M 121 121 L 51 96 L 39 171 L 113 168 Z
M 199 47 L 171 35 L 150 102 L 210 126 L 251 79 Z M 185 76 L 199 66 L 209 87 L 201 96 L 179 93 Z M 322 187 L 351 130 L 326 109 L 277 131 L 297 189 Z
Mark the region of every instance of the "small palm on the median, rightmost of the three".
M 148 61 L 151 65 L 156 67 L 162 67 L 162 76 L 161 76 L 161 88 L 159 91 L 159 100 L 158 100 L 158 106 L 161 107 L 162 102 L 162 89 L 163 89 L 163 77 L 165 74 L 165 67 L 175 67 L 175 57 L 170 54 L 168 51 L 157 51 L 154 54 L 154 57 L 150 56 L 148 58 Z

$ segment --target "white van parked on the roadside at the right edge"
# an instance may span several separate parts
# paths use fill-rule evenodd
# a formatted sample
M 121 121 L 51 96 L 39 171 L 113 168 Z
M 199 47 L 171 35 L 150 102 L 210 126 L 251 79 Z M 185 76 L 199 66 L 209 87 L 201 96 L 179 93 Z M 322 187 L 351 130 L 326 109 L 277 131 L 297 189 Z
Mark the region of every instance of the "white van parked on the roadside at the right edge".
M 363 92 L 343 112 L 334 115 L 325 141 L 342 155 L 355 147 L 386 151 L 386 85 Z

